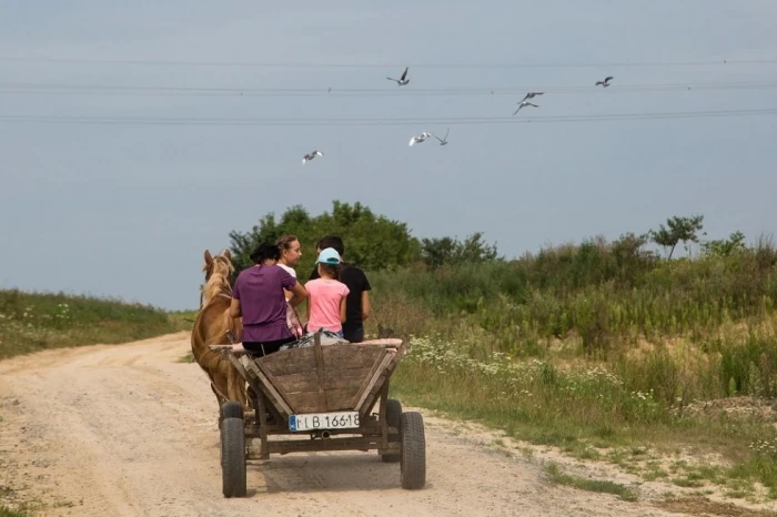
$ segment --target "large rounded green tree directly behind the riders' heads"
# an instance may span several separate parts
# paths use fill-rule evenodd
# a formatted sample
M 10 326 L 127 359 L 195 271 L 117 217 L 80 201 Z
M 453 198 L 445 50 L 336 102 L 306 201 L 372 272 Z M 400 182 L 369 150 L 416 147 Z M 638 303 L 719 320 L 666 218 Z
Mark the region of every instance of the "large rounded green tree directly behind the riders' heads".
M 238 272 L 249 267 L 249 255 L 261 242 L 274 242 L 281 235 L 300 239 L 302 260 L 297 271 L 312 271 L 315 243 L 326 234 L 340 235 L 345 243 L 345 260 L 364 270 L 379 271 L 417 261 L 421 245 L 405 223 L 374 214 L 367 206 L 332 202 L 332 212 L 311 216 L 300 206 L 291 206 L 281 215 L 269 213 L 248 232 L 230 232 L 233 263 Z M 302 273 L 304 274 L 304 273 Z

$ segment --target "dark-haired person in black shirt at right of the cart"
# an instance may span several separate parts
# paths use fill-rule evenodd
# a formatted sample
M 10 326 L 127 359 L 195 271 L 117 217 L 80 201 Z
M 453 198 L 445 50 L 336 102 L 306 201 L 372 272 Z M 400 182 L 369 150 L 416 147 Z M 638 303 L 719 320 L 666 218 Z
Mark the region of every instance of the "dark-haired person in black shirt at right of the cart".
M 334 247 L 342 257 L 345 252 L 343 240 L 337 235 L 325 235 L 315 245 L 316 253 L 327 247 Z M 319 277 L 319 270 L 313 270 L 310 280 Z M 343 323 L 343 336 L 351 343 L 364 341 L 364 321 L 370 317 L 370 291 L 372 286 L 367 276 L 355 265 L 342 262 L 340 264 L 340 281 L 350 292 L 345 297 L 345 322 Z

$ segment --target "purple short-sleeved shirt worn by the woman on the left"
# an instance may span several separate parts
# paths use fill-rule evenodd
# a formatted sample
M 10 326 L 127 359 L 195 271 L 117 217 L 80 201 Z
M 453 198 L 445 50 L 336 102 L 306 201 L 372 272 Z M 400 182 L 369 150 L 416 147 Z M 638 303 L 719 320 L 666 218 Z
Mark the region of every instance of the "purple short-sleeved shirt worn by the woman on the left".
M 286 297 L 296 278 L 276 265 L 243 270 L 234 282 L 232 297 L 240 300 L 243 312 L 243 342 L 260 342 L 293 337 L 286 326 Z

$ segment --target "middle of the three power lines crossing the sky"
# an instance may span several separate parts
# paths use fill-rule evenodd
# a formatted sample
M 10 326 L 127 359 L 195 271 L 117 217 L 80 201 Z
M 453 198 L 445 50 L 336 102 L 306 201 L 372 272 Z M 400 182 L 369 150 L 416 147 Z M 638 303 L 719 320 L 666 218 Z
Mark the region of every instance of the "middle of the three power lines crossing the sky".
M 0 83 L 0 92 L 13 94 L 130 94 L 141 97 L 458 97 L 515 95 L 526 91 L 554 94 L 569 93 L 645 93 L 677 91 L 763 90 L 777 88 L 777 82 L 740 81 L 707 83 L 645 83 L 623 84 L 614 89 L 594 85 L 496 87 L 496 88 L 437 88 L 395 91 L 391 89 L 322 89 L 322 88 L 254 88 L 254 87 L 162 87 L 129 84 L 65 84 L 37 82 Z

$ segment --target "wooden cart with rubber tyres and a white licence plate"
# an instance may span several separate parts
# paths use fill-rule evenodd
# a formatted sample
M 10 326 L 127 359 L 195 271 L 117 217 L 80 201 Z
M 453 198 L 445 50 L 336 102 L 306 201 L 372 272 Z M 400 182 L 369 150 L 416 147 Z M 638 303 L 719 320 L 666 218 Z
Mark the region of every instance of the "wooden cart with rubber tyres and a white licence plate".
M 400 464 L 403 488 L 422 488 L 423 417 L 389 398 L 406 346 L 402 339 L 322 345 L 315 334 L 312 346 L 253 359 L 239 345 L 212 345 L 249 383 L 252 407 L 228 401 L 221 408 L 224 496 L 245 495 L 246 460 L 323 450 L 377 450 L 383 462 Z M 251 438 L 260 439 L 259 452 L 246 448 Z

